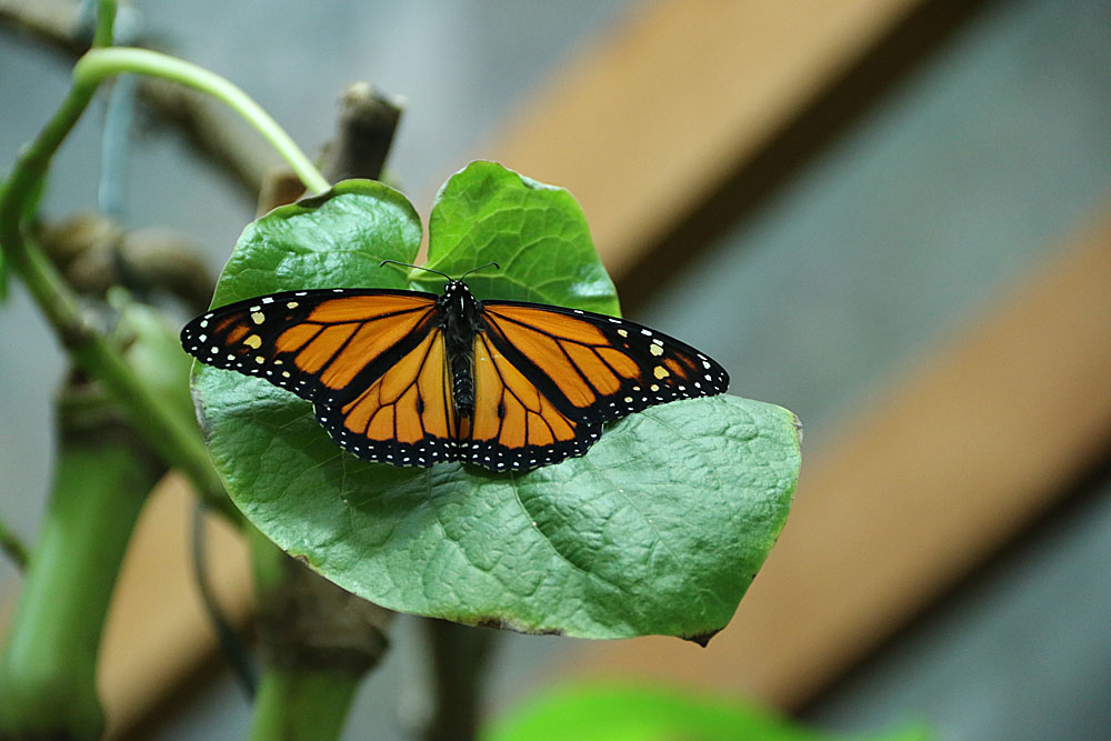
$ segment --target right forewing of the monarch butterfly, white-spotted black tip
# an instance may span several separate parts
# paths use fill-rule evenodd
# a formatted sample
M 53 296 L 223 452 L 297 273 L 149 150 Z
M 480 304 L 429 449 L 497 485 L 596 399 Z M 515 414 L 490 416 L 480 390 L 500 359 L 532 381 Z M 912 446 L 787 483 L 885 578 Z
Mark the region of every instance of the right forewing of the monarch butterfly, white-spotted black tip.
M 729 387 L 725 369 L 705 354 L 624 319 L 518 301 L 484 301 L 482 317 L 491 346 L 577 423 Z

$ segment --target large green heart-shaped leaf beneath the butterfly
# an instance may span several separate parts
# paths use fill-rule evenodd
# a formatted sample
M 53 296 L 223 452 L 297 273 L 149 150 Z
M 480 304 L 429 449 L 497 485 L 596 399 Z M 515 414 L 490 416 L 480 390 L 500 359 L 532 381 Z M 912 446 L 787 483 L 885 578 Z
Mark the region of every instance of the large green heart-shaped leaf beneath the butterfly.
M 512 193 L 528 212 L 521 218 Z M 487 197 L 503 204 L 488 212 Z M 534 236 L 544 231 L 528 226 L 537 213 L 562 237 L 522 249 L 511 224 Z M 612 300 L 565 191 L 477 163 L 441 191 L 432 223 L 430 253 L 451 274 L 504 261 L 484 283 L 494 296 L 588 308 Z M 216 303 L 403 287 L 404 272 L 378 264 L 412 262 L 419 239 L 396 191 L 341 183 L 249 227 Z M 410 278 L 428 280 L 421 272 Z M 527 293 L 533 280 L 538 293 Z M 798 477 L 793 415 L 734 397 L 657 407 L 608 425 L 584 458 L 496 474 L 360 461 L 331 442 L 310 403 L 260 379 L 198 367 L 193 383 L 217 468 L 260 531 L 378 604 L 467 623 L 707 640 L 728 623 L 783 527 Z

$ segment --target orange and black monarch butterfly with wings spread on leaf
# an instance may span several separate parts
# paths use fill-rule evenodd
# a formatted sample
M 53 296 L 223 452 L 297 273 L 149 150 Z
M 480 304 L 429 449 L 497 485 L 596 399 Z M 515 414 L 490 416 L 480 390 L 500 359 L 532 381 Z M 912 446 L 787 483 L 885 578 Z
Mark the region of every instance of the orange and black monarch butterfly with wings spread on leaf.
M 440 296 L 333 288 L 238 301 L 190 321 L 181 343 L 308 399 L 340 448 L 393 465 L 529 471 L 584 454 L 603 422 L 729 385 L 717 362 L 647 327 L 480 301 L 470 272 L 440 273 Z

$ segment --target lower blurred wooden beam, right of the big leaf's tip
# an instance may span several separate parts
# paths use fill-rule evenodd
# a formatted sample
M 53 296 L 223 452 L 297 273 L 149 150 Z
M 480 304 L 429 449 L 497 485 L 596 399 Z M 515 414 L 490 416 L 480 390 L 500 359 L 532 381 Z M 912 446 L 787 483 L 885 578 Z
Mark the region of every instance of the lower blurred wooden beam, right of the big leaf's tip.
M 798 707 L 1049 509 L 1111 448 L 1105 214 L 804 461 L 779 544 L 709 650 L 640 639 L 591 647 L 575 671 Z

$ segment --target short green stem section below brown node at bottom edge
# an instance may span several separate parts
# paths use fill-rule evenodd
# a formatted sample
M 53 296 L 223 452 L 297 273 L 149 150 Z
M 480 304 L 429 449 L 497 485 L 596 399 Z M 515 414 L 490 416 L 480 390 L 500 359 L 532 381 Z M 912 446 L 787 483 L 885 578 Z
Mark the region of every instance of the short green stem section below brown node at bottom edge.
M 254 701 L 253 741 L 340 738 L 361 675 L 268 665 Z

